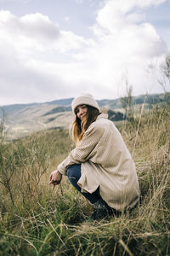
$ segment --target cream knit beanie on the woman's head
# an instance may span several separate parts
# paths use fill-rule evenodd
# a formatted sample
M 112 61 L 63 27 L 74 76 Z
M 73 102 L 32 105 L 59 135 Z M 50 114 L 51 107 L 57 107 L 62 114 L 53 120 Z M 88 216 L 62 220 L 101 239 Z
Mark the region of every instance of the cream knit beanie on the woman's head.
M 75 109 L 82 104 L 97 108 L 100 112 L 99 104 L 94 100 L 94 97 L 91 94 L 83 94 L 82 96 L 78 96 L 71 102 L 71 108 L 73 113 L 75 113 Z

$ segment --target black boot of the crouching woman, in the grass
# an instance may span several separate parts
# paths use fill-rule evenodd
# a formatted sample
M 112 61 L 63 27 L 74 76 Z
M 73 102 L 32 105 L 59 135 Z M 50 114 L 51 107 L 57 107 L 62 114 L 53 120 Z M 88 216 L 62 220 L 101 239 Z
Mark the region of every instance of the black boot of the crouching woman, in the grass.
M 94 204 L 94 212 L 91 216 L 94 220 L 99 220 L 105 217 L 109 217 L 113 214 L 112 208 L 109 207 L 103 199 L 99 199 Z

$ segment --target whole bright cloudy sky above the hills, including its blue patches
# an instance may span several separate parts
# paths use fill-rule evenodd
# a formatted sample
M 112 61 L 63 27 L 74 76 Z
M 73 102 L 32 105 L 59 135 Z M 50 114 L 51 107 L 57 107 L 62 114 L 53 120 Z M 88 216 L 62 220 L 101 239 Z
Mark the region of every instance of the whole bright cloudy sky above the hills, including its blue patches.
M 0 105 L 162 93 L 169 13 L 170 0 L 0 0 Z

